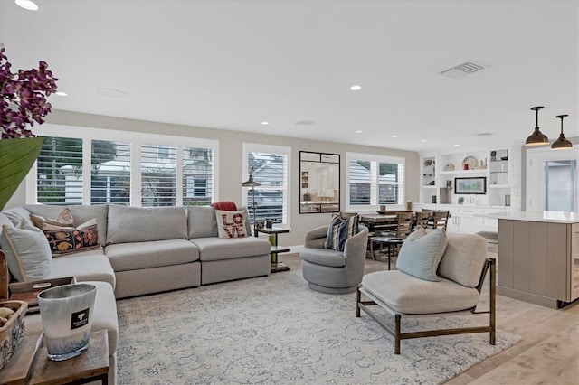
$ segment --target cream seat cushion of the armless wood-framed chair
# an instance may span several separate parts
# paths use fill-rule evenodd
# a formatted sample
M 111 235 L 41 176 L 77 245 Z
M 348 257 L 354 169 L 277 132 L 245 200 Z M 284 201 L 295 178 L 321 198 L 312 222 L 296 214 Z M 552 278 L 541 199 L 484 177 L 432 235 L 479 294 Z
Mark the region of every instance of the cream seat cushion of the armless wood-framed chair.
M 366 274 L 362 286 L 394 311 L 410 315 L 456 312 L 479 303 L 479 292 L 475 288 L 449 279 L 426 281 L 400 270 Z

